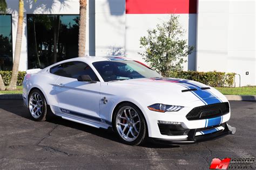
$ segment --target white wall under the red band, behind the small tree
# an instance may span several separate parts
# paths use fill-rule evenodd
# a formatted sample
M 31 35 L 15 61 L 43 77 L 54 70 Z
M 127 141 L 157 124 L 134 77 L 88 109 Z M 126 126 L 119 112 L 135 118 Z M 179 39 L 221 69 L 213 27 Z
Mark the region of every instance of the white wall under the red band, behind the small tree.
M 184 39 L 188 40 L 190 46 L 196 47 L 196 20 L 197 14 L 178 14 L 179 22 L 186 33 Z M 126 56 L 139 61 L 144 61 L 138 52 L 144 52 L 140 48 L 140 37 L 147 35 L 147 30 L 155 29 L 157 24 L 162 24 L 170 18 L 170 14 L 129 14 L 126 15 Z M 196 52 L 190 56 L 189 62 L 184 64 L 184 70 L 195 69 Z

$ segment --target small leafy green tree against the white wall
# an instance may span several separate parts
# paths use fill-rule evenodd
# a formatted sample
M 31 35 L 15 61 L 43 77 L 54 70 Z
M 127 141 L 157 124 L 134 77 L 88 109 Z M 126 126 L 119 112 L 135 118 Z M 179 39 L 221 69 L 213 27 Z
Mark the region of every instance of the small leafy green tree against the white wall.
M 187 46 L 187 39 L 183 39 L 185 32 L 179 23 L 179 16 L 171 15 L 167 22 L 147 30 L 147 36 L 140 38 L 140 47 L 145 50 L 139 54 L 164 77 L 170 71 L 182 70 L 188 54 L 194 49 Z

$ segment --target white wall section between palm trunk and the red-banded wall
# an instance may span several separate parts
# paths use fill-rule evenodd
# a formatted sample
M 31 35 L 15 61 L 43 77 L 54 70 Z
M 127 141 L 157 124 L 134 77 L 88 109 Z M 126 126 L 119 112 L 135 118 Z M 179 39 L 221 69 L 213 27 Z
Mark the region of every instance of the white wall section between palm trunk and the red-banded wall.
M 95 0 L 96 55 L 125 55 L 125 0 Z

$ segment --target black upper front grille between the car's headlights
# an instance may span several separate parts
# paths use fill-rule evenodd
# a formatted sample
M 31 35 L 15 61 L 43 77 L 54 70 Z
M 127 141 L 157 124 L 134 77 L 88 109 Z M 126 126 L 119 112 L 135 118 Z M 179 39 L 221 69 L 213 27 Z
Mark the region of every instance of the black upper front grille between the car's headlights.
M 230 105 L 228 104 L 228 102 L 216 103 L 194 108 L 186 115 L 186 118 L 189 121 L 208 119 L 223 116 L 228 112 L 230 112 Z

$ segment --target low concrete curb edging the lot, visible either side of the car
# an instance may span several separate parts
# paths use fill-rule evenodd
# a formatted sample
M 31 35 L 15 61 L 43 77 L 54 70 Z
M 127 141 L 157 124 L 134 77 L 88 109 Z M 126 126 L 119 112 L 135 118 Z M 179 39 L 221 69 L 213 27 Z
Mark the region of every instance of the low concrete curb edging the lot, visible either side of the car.
M 256 95 L 242 96 L 242 95 L 225 95 L 229 101 L 256 101 Z M 0 94 L 1 99 L 22 99 L 22 94 Z

